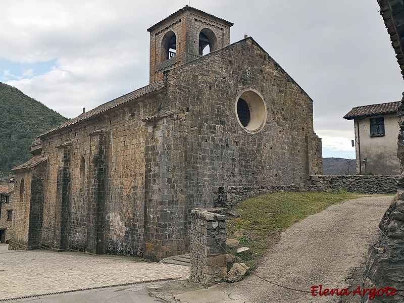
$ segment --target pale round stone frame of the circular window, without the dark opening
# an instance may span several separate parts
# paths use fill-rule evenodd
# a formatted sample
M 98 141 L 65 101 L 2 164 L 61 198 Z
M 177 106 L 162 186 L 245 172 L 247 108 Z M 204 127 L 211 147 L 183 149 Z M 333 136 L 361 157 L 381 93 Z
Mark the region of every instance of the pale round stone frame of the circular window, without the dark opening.
M 237 104 L 239 99 L 244 100 L 248 105 L 250 121 L 246 126 L 242 125 L 240 118 L 238 117 Z M 238 124 L 245 132 L 249 134 L 256 134 L 264 128 L 265 122 L 267 121 L 267 105 L 265 104 L 264 98 L 259 91 L 253 88 L 247 88 L 241 91 L 236 97 L 234 111 Z

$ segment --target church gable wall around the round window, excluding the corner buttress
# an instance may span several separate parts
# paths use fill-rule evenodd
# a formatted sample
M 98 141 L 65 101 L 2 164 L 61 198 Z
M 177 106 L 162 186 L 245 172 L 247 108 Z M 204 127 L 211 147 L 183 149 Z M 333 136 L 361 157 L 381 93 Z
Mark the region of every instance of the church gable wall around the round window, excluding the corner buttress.
M 315 135 L 312 100 L 252 39 L 169 71 L 167 85 L 167 99 L 181 112 L 172 120 L 172 146 L 186 148 L 192 208 L 213 206 L 212 186 L 304 182 L 307 143 L 313 145 Z M 245 131 L 236 118 L 244 90 L 258 92 L 266 104 L 257 133 Z

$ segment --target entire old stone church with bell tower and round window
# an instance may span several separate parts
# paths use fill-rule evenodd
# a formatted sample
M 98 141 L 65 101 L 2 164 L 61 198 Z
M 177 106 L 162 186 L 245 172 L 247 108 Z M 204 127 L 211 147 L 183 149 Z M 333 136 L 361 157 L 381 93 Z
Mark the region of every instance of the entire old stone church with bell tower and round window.
M 38 136 L 13 169 L 11 248 L 161 260 L 218 187 L 322 173 L 313 100 L 254 39 L 230 44 L 232 25 L 180 9 L 147 29 L 149 85 Z

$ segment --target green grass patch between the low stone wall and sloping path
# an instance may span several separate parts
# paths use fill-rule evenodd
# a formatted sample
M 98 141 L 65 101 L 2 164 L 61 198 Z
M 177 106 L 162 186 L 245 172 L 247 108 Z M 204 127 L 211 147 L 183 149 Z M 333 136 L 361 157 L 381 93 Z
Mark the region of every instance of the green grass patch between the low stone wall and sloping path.
M 353 192 L 278 192 L 264 194 L 241 201 L 231 212 L 239 216 L 226 223 L 227 238 L 235 238 L 251 249 L 250 254 L 238 256 L 250 268 L 271 245 L 277 243 L 280 234 L 287 227 L 316 214 L 330 205 L 355 199 L 365 194 Z

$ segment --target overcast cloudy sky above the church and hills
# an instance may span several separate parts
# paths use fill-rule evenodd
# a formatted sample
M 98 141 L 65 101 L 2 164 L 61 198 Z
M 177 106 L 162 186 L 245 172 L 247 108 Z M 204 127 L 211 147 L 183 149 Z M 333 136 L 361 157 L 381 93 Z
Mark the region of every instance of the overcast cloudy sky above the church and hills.
M 1 0 L 0 82 L 74 118 L 148 84 L 147 28 L 188 0 Z M 404 81 L 376 0 L 191 0 L 254 38 L 314 100 L 323 157 L 355 158 L 361 105 L 400 100 Z

